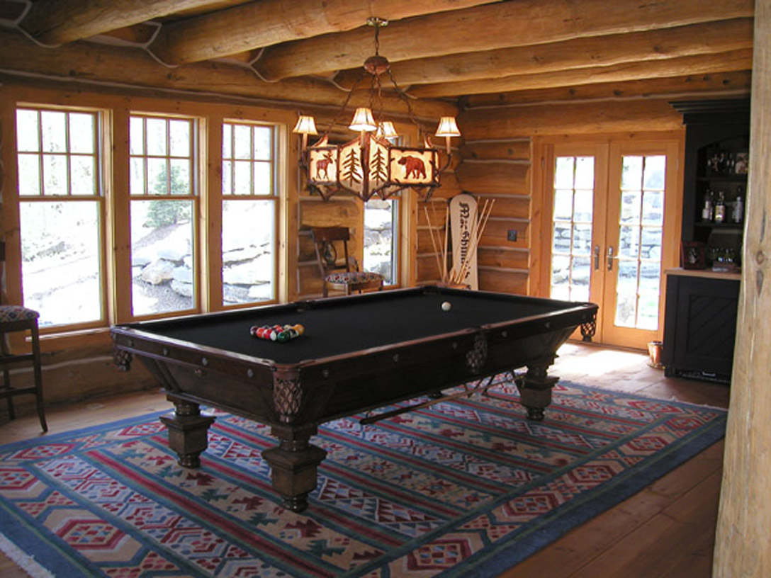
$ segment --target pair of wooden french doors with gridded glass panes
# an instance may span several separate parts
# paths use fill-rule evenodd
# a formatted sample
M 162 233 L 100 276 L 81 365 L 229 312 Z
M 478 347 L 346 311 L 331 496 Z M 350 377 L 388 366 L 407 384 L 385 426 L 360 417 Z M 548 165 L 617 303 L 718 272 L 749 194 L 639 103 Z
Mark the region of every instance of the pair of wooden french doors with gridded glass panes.
M 664 271 L 678 263 L 678 140 L 545 147 L 542 287 L 600 306 L 594 341 L 662 338 Z

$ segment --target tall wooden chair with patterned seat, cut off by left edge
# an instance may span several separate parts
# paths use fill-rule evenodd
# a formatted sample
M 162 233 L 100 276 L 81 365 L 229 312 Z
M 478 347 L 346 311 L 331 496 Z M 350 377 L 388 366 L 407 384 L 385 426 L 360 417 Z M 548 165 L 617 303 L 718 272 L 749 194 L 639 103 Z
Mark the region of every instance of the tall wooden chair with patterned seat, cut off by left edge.
M 5 262 L 5 243 L 0 243 L 0 260 Z M 2 304 L 0 295 L 0 365 L 2 365 L 3 383 L 0 387 L 0 399 L 5 398 L 8 403 L 8 417 L 16 417 L 13 408 L 13 398 L 16 395 L 35 395 L 38 418 L 43 432 L 48 432 L 45 423 L 45 408 L 43 407 L 42 370 L 40 367 L 40 335 L 38 331 L 39 313 L 22 307 L 21 305 Z M 32 351 L 26 353 L 12 353 L 8 345 L 8 333 L 15 331 L 29 331 Z M 34 385 L 26 387 L 12 387 L 10 368 L 20 363 L 32 362 Z

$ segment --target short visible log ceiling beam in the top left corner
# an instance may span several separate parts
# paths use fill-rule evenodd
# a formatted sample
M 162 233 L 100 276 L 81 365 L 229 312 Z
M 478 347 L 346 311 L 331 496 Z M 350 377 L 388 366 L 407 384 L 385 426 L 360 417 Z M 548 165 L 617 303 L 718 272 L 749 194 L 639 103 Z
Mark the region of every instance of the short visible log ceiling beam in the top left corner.
M 214 0 L 36 0 L 19 25 L 41 44 L 61 45 L 213 3 Z

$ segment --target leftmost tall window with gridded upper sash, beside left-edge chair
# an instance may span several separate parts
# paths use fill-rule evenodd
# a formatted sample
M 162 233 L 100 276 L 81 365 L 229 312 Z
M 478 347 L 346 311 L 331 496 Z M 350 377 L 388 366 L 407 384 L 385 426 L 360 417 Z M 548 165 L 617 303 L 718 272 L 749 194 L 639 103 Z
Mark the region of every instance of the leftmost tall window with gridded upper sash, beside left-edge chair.
M 42 327 L 104 318 L 99 120 L 16 110 L 24 304 Z

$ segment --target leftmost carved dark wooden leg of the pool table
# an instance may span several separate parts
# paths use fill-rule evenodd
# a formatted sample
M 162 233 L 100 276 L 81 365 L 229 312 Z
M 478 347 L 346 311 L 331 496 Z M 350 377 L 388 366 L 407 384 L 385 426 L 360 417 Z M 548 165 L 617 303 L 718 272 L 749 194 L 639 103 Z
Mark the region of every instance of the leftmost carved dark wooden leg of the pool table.
M 183 468 L 200 466 L 200 454 L 207 448 L 211 415 L 201 415 L 197 403 L 168 396 L 174 404 L 174 415 L 161 415 L 160 421 L 169 430 L 169 447 L 177 452 L 177 463 Z

